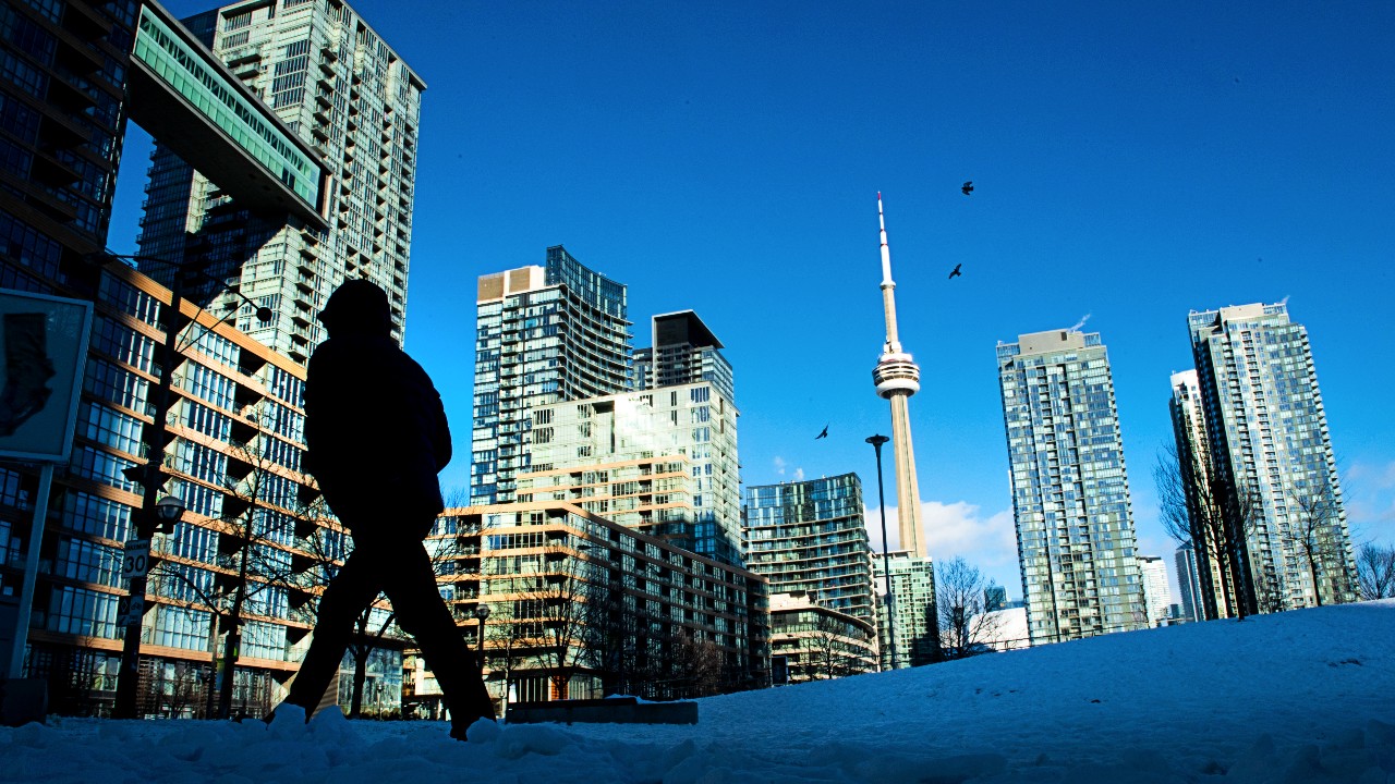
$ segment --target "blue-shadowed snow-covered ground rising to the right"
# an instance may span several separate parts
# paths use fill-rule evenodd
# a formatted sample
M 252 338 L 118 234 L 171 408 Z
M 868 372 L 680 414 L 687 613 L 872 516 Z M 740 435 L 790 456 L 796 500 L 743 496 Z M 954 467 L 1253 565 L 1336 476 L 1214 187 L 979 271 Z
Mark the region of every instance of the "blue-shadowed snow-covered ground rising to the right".
M 696 725 L 49 720 L 0 781 L 1395 783 L 1395 600 L 700 700 Z

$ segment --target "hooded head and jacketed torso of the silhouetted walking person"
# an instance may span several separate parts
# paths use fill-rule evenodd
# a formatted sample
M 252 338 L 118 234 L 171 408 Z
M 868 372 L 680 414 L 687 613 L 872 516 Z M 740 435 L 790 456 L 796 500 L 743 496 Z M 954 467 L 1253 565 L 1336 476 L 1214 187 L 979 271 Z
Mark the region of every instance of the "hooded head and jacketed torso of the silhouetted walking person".
M 437 473 L 451 462 L 441 395 L 392 339 L 377 285 L 343 283 L 318 319 L 329 339 L 306 374 L 307 470 L 356 534 L 420 538 L 444 508 Z M 399 532 L 402 522 L 413 530 Z

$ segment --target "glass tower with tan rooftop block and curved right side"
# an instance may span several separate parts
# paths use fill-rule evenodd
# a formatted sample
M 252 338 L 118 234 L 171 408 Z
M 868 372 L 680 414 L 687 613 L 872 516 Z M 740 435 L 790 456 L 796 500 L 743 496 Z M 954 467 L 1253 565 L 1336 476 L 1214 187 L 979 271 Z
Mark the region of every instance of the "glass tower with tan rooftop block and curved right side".
M 632 388 L 625 286 L 562 246 L 544 266 L 480 278 L 470 505 L 515 501 L 531 465 L 531 410 Z

